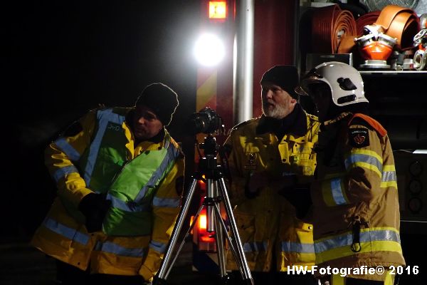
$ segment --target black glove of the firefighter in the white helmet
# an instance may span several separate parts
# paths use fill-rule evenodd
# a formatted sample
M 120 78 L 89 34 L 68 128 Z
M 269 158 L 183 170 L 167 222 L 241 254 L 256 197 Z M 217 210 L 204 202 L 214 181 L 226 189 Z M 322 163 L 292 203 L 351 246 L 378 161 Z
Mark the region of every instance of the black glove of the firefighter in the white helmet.
M 295 207 L 295 214 L 298 219 L 303 219 L 307 215 L 312 205 L 309 188 L 286 187 L 280 190 L 279 194 Z

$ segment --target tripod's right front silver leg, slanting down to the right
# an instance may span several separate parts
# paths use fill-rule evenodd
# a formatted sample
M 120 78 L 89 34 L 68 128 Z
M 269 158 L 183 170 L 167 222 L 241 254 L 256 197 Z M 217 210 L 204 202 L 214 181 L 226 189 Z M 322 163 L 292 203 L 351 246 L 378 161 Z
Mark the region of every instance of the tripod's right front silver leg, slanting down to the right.
M 228 198 L 226 182 L 224 182 L 223 178 L 218 180 L 218 182 L 219 182 L 220 189 L 221 189 L 221 195 L 223 196 L 223 202 L 224 202 L 224 205 L 226 207 L 226 213 L 227 213 L 228 219 L 230 221 L 231 232 L 233 233 L 233 237 L 234 237 L 235 242 L 236 242 L 236 251 L 237 251 L 238 255 L 240 256 L 240 260 L 237 260 L 237 262 L 239 265 L 241 265 L 241 267 L 243 267 L 240 269 L 241 272 L 243 273 L 242 277 L 246 281 L 247 284 L 253 285 L 251 270 L 249 269 L 248 261 L 246 260 L 246 256 L 245 256 L 245 252 L 243 252 L 243 246 L 242 246 L 240 236 L 238 234 L 236 219 L 234 219 L 233 209 L 231 208 L 230 199 Z

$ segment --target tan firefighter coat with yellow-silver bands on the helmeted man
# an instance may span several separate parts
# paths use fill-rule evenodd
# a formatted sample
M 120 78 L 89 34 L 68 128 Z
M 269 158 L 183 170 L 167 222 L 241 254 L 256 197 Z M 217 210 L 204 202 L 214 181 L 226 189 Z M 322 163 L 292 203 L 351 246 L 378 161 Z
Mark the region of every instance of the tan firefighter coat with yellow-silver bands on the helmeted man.
M 311 192 L 316 264 L 385 269 L 405 265 L 394 157 L 386 130 L 376 120 L 342 113 L 325 122 Z

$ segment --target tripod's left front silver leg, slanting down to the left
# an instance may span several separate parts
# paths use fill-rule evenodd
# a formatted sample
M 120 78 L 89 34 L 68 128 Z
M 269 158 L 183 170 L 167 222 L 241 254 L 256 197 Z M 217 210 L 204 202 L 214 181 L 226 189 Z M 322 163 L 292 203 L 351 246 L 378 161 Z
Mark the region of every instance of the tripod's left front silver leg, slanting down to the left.
M 157 272 L 157 276 L 153 281 L 153 284 L 157 284 L 158 280 L 165 280 L 167 278 L 167 268 L 169 266 L 169 261 L 172 257 L 172 252 L 174 252 L 174 247 L 176 244 L 176 241 L 178 240 L 179 233 L 181 232 L 182 225 L 184 224 L 184 220 L 186 217 L 187 212 L 189 211 L 189 207 L 191 204 L 191 199 L 194 195 L 194 191 L 196 190 L 196 184 L 197 180 L 196 178 L 193 179 L 191 182 L 191 186 L 189 188 L 189 192 L 187 193 L 184 204 L 181 207 L 181 210 L 179 211 L 178 218 L 176 219 L 174 230 L 172 231 L 171 239 L 169 240 L 169 244 L 167 246 L 167 250 L 164 253 L 164 257 L 162 260 L 162 264 L 160 264 L 159 271 Z

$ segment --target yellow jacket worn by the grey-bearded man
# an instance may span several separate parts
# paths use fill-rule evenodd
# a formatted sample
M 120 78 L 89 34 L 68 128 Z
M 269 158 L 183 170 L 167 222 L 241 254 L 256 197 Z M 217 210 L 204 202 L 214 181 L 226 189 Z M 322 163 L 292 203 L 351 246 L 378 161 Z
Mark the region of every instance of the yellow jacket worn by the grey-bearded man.
M 295 208 L 278 193 L 282 186 L 310 182 L 315 171 L 313 147 L 320 123 L 302 109 L 298 119 L 304 126 L 302 133 L 291 131 L 278 140 L 272 132 L 259 132 L 258 126 L 265 117 L 253 118 L 233 128 L 224 143 L 231 149 L 231 204 L 236 207 L 233 213 L 252 271 L 270 271 L 271 266 L 286 271 L 292 265 L 315 264 L 312 224 L 297 219 Z M 283 178 L 283 185 L 265 185 L 258 197 L 248 199 L 245 187 L 255 172 L 264 172 L 276 180 Z M 272 264 L 273 251 L 277 264 Z M 228 254 L 227 266 L 238 269 L 232 254 Z

